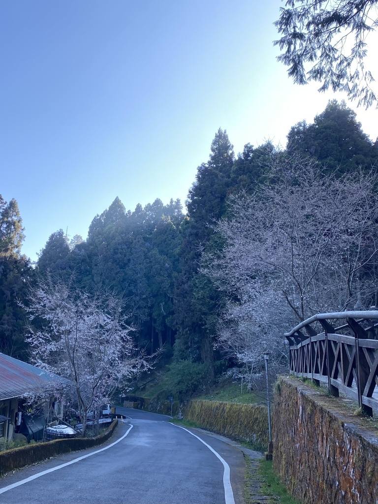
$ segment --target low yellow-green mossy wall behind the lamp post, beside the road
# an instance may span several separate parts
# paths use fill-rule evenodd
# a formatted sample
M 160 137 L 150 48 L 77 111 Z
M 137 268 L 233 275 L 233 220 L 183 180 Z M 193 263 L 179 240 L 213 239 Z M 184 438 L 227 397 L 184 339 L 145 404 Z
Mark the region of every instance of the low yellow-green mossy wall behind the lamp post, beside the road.
M 258 449 L 265 450 L 268 446 L 266 406 L 191 400 L 183 415 L 186 420 L 196 422 L 204 429 L 249 442 Z

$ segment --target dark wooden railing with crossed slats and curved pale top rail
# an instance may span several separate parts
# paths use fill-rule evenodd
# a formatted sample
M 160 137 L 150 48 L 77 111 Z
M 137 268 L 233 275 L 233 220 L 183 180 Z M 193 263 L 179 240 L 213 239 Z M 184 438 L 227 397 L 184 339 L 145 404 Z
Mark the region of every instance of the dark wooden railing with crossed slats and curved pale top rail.
M 341 323 L 341 325 L 339 325 Z M 378 311 L 318 313 L 285 333 L 290 372 L 378 414 Z

